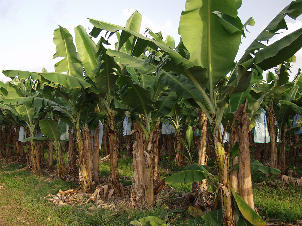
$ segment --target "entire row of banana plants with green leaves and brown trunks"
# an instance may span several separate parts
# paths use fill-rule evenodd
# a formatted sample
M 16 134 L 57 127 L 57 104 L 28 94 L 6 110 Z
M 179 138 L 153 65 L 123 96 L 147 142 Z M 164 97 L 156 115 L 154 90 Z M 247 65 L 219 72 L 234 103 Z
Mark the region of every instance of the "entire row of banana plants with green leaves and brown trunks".
M 240 6 L 240 0 L 187 1 L 179 22 L 181 39 L 177 46 L 171 36 L 163 39 L 160 32 L 147 29 L 147 37 L 139 34 L 142 16 L 137 11 L 125 27 L 89 19 L 93 29 L 88 34 L 84 27 L 76 27 L 75 44 L 69 31 L 59 26 L 53 38 L 56 45 L 53 58 L 60 58 L 55 72 L 45 69 L 40 73 L 2 71 L 12 81 L 1 83 L 0 88 L 4 125 L 1 132 L 5 136 L 4 143 L 8 143 L 4 147 L 2 142 L 2 150 L 6 153 L 0 157 L 11 156 L 9 144 L 12 144 L 18 157 L 25 160 L 26 155 L 28 167 L 40 174 L 48 139 L 47 165 L 52 165 L 53 148 L 57 153 L 60 178 L 78 174 L 78 160 L 80 187 L 92 191 L 100 183 L 101 120 L 103 145 L 110 154 L 108 183 L 119 195 L 117 156 L 122 145 L 119 129 L 126 114 L 133 120 L 131 133 L 135 136 L 133 202 L 138 207 L 151 207 L 154 205 L 153 189 L 159 182 L 159 125 L 168 122 L 174 127 L 175 151 L 171 144 L 169 149 L 175 152 L 178 165 L 184 165 L 184 158 L 192 163 L 193 126 L 199 129 L 195 139 L 200 165 L 189 165 L 166 182 L 197 182 L 207 190 L 206 179 L 213 175 L 205 166 L 209 154 L 206 147 L 211 146 L 218 171 L 218 177 L 214 177 L 217 178 L 216 199 L 221 201 L 225 225 L 239 225 L 239 220 L 265 225 L 253 212 L 249 131 L 265 109 L 269 126 L 269 131 L 265 131 L 270 135 L 271 168 L 268 173 L 285 172 L 287 137 L 299 129 L 301 122 L 298 118 L 296 128 L 291 130 L 291 119 L 302 112 L 302 78 L 299 71 L 294 81 L 289 82 L 288 71 L 290 63 L 295 61 L 294 54 L 302 46 L 302 28 L 270 45 L 262 42 L 282 29 L 287 30 L 284 17 L 296 19 L 302 12 L 302 1 L 291 2 L 278 13 L 239 61 L 234 62 L 246 26 L 255 24 L 252 17 L 244 24 L 241 22 L 237 16 Z M 106 49 L 112 35 L 117 36 L 118 42 L 115 49 Z M 92 37 L 98 38 L 98 42 Z M 268 72 L 266 82 L 263 81 L 263 71 L 274 67 L 275 74 Z M 225 129 L 221 127 L 222 122 Z M 26 128 L 25 143 L 17 139 L 20 126 Z M 62 136 L 68 127 L 69 140 L 65 142 L 68 161 L 64 166 L 61 146 L 67 134 L 64 139 Z M 44 137 L 37 136 L 38 131 Z M 224 145 L 227 132 L 230 139 Z M 295 139 L 298 145 L 298 138 Z M 130 155 L 132 144 L 130 140 L 127 143 Z M 257 147 L 260 150 L 259 145 Z M 260 152 L 257 153 L 256 158 L 261 159 Z M 252 164 L 254 167 L 261 165 L 259 162 Z M 239 219 L 236 219 L 236 212 Z

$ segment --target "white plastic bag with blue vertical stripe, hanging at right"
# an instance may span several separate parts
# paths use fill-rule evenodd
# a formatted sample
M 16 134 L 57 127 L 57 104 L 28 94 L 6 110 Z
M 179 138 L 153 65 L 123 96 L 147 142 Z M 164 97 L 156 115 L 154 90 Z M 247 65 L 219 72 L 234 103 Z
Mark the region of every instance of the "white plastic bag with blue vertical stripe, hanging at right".
M 270 143 L 268 124 L 265 116 L 266 111 L 262 108 L 256 119 L 254 143 Z

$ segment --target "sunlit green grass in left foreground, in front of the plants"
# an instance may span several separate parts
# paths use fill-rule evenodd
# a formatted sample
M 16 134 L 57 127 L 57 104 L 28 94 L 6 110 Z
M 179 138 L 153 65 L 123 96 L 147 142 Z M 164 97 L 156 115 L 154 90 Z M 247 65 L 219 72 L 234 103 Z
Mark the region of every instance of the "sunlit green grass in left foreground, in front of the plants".
M 129 160 L 121 160 L 121 162 Z M 121 164 L 122 165 L 122 164 Z M 66 190 L 78 187 L 76 183 L 63 180 L 44 181 L 45 176 L 35 176 L 30 171 L 14 171 L 17 164 L 0 168 L 0 219 L 9 225 L 129 225 L 131 220 L 146 216 L 158 216 L 165 212 L 163 206 L 156 205 L 150 210 L 134 210 L 132 208 L 100 209 L 90 215 L 89 205 L 54 206 L 43 197 L 56 194 L 59 189 Z M 21 166 L 22 167 L 22 166 Z M 129 168 L 128 165 L 124 165 Z M 123 171 L 123 170 L 122 170 Z M 125 171 L 126 175 L 128 169 Z M 0 221 L 0 223 L 2 223 Z

